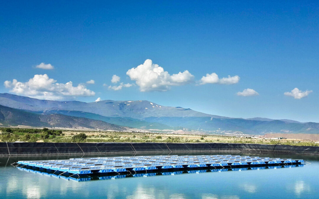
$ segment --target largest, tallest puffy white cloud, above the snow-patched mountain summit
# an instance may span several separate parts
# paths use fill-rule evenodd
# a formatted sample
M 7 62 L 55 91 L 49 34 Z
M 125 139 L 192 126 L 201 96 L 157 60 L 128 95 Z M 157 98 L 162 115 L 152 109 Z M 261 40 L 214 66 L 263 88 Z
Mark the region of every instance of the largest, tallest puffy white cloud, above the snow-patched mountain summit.
M 194 76 L 188 70 L 169 75 L 162 67 L 148 59 L 136 68 L 126 72 L 131 80 L 136 81 L 140 91 L 167 91 L 170 86 L 179 86 L 192 82 Z

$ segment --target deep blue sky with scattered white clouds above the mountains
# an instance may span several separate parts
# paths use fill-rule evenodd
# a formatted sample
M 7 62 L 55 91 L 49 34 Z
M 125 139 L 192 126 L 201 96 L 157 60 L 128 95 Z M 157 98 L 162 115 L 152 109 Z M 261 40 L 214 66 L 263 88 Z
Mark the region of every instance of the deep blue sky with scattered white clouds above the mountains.
M 6 1 L 0 93 L 319 122 L 318 1 Z

